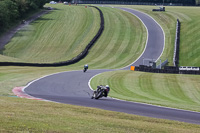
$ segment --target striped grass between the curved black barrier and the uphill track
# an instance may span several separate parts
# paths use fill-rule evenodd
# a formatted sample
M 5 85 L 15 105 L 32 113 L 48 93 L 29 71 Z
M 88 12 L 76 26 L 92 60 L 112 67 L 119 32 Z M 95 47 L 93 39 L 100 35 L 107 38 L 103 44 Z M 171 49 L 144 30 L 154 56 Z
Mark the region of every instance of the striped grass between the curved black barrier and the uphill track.
M 92 69 L 122 68 L 143 52 L 147 33 L 140 20 L 122 10 L 99 7 L 105 18 L 105 29 L 88 56 L 76 63 L 89 63 Z

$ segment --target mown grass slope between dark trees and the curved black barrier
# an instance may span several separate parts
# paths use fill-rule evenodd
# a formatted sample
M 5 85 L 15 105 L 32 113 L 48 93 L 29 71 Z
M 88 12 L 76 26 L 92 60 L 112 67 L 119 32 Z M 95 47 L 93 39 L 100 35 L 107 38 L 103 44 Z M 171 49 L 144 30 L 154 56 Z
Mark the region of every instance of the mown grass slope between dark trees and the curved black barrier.
M 9 60 L 13 57 L 23 62 L 53 63 L 72 59 L 83 51 L 100 27 L 98 10 L 51 6 L 55 10 L 17 32 L 1 51 L 1 61 L 7 61 L 7 56 Z

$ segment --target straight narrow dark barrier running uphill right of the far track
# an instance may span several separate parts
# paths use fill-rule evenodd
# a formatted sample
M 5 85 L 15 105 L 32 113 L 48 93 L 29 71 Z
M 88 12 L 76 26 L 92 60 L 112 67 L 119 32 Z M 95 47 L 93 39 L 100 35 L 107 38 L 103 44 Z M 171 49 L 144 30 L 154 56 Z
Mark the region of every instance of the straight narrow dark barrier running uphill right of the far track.
M 174 63 L 174 66 L 176 67 L 178 67 L 178 64 L 179 64 L 180 29 L 181 29 L 181 24 L 180 24 L 179 19 L 177 19 L 174 57 L 173 57 L 173 63 Z

